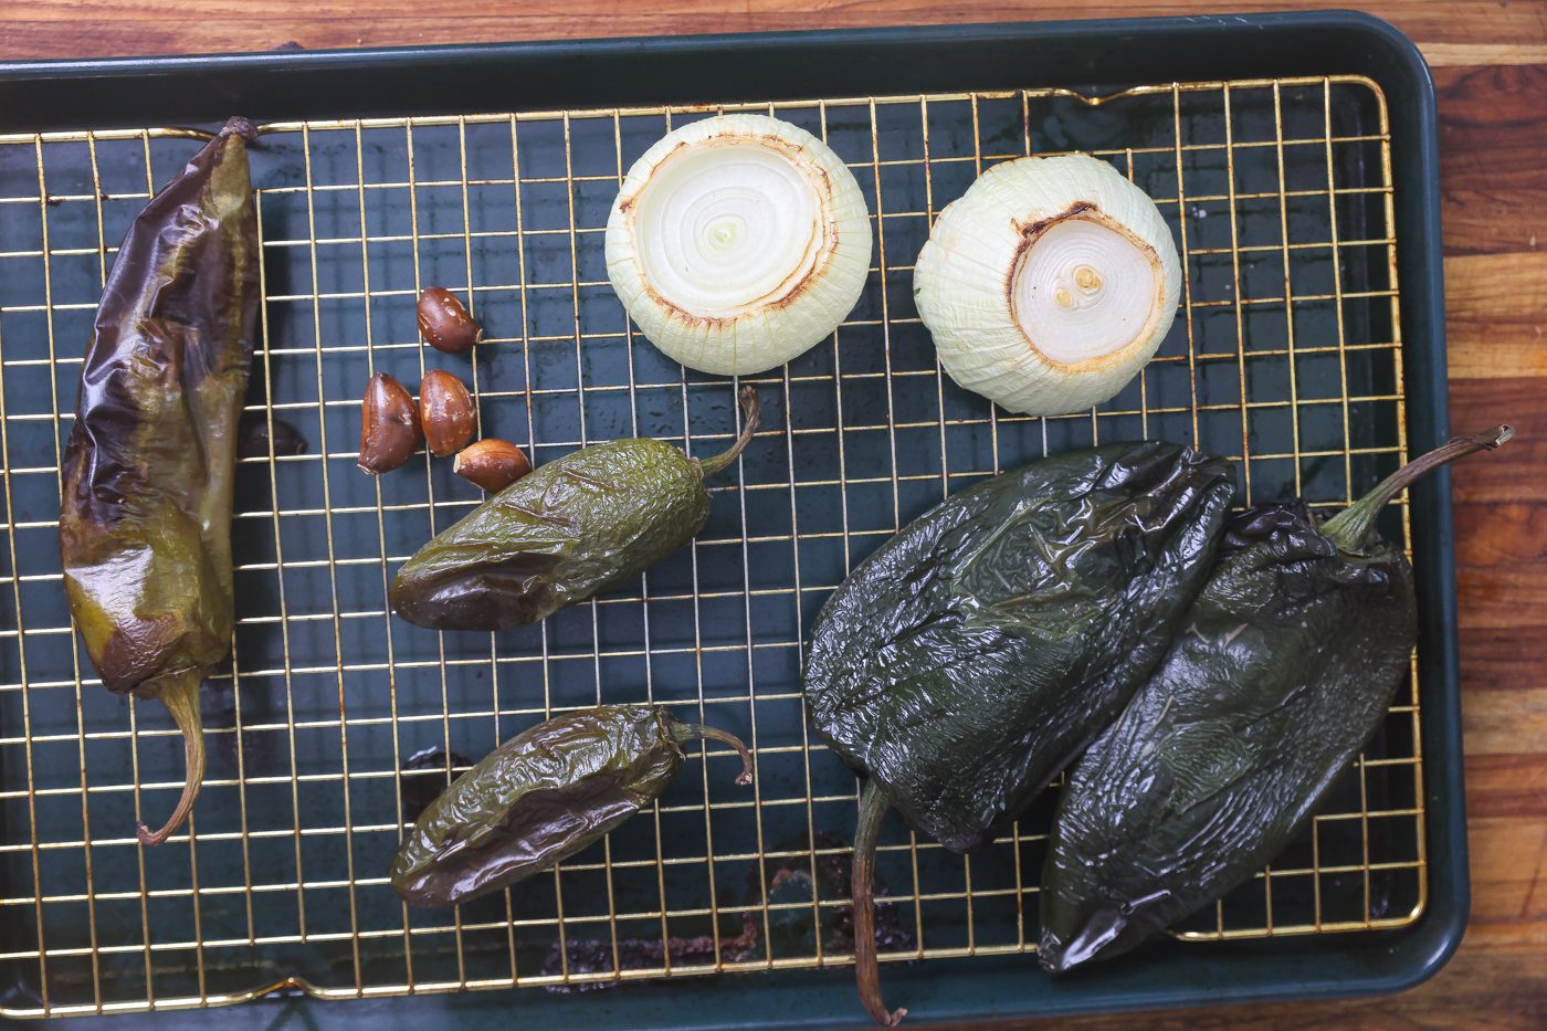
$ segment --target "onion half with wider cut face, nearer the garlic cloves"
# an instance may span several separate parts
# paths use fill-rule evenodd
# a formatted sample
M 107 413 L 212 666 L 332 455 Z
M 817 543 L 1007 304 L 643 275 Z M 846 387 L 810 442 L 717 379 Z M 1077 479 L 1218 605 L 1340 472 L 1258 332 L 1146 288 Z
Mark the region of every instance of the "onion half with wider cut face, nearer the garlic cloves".
M 722 115 L 667 133 L 628 170 L 606 272 L 650 341 L 727 376 L 783 365 L 854 308 L 871 226 L 854 173 L 806 130 Z

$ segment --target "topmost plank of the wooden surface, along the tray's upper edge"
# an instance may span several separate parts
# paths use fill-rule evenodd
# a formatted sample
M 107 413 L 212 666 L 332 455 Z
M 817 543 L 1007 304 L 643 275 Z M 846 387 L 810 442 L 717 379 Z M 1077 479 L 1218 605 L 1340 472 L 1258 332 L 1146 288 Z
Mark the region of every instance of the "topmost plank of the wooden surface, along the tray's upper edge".
M 1052 0 L 209 0 L 170 14 L 150 0 L 9 0 L 0 57 L 195 54 L 272 50 L 297 42 L 326 46 L 404 46 L 585 36 L 681 36 L 866 25 L 1052 22 L 1071 17 L 1315 11 L 1326 0 L 1287 3 L 1197 0 L 1054 3 Z M 1547 63 L 1541 0 L 1371 3 L 1411 36 L 1437 67 Z

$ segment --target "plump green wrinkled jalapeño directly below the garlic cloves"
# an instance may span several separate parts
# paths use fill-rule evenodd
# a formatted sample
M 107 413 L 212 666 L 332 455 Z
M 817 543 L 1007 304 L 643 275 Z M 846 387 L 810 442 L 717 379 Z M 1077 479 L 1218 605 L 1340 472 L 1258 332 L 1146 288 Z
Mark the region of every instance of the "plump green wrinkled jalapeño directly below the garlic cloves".
M 507 630 L 637 576 L 709 520 L 704 478 L 735 461 L 758 426 L 752 387 L 739 399 L 741 435 L 713 458 L 614 440 L 517 480 L 408 559 L 393 610 L 432 630 Z

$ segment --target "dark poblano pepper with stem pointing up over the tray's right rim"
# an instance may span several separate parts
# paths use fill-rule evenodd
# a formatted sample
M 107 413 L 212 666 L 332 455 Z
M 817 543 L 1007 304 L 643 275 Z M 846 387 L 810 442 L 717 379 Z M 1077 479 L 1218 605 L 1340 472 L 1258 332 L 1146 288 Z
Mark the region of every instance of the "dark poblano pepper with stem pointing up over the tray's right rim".
M 1289 505 L 1231 520 L 1165 659 L 1060 799 L 1046 969 L 1128 952 L 1299 833 L 1369 743 L 1417 639 L 1412 568 L 1375 517 L 1429 469 L 1510 435 L 1453 441 L 1320 528 Z

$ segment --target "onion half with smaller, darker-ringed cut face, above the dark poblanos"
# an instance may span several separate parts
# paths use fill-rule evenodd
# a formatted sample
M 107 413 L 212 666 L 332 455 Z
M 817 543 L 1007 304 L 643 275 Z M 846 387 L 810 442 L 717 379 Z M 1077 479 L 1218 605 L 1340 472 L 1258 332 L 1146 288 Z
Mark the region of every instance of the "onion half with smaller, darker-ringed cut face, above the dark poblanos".
M 1180 285 L 1154 201 L 1084 155 L 985 172 L 936 218 L 913 274 L 951 379 L 1030 415 L 1122 390 L 1171 328 Z

